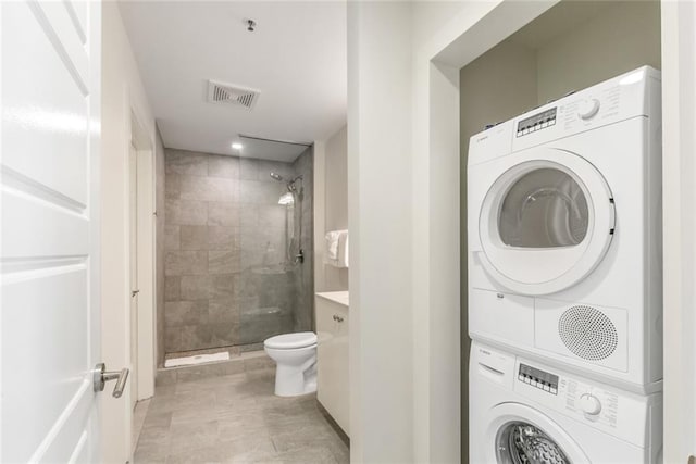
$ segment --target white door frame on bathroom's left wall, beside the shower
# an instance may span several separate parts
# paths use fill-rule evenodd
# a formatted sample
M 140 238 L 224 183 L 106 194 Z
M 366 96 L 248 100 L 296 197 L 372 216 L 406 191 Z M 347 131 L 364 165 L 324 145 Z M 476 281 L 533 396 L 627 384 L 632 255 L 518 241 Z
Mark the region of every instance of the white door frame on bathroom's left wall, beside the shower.
M 154 145 L 150 139 L 144 125 L 140 124 L 141 118 L 137 115 L 136 109 L 130 108 L 128 121 L 128 134 L 129 140 L 126 145 L 129 149 L 130 145 L 136 149 L 136 178 L 137 178 L 137 274 L 138 274 L 138 310 L 137 310 L 137 366 L 136 371 L 133 371 L 134 377 L 137 378 L 137 398 L 136 401 L 141 401 L 148 398 L 152 398 L 154 394 L 154 376 L 157 372 L 156 363 L 156 191 L 154 191 Z M 128 160 L 128 170 L 130 172 L 130 158 L 126 155 Z M 130 176 L 128 176 L 128 189 L 126 193 L 129 196 Z M 129 204 L 126 198 L 126 203 Z M 130 215 L 127 215 L 127 227 L 129 230 Z M 130 254 L 128 253 L 128 265 L 126 272 L 130 272 Z M 128 300 L 130 301 L 130 300 Z M 130 311 L 128 309 L 128 322 L 126 324 L 127 330 L 127 347 L 130 347 L 130 339 L 133 334 L 130 333 Z M 132 365 L 130 368 L 134 366 Z

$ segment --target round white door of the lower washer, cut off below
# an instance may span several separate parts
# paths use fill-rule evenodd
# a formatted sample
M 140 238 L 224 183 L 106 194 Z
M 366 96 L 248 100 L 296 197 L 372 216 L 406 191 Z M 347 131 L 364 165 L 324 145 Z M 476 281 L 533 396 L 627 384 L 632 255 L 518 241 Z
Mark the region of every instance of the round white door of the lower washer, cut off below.
M 489 412 L 486 462 L 497 464 L 571 464 L 589 460 L 558 424 L 520 403 L 502 403 Z

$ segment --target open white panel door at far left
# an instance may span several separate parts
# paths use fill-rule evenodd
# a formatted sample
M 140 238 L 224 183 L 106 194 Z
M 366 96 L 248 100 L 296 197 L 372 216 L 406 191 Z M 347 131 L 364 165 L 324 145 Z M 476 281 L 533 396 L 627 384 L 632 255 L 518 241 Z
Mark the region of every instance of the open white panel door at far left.
M 98 2 L 0 2 L 0 461 L 98 462 Z

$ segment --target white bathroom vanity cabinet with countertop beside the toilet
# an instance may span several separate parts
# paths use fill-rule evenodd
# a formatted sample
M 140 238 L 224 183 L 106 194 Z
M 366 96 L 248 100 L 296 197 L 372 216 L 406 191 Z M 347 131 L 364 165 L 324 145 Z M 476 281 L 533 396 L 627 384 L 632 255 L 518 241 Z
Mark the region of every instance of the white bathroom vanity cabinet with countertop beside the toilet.
M 348 292 L 316 293 L 316 398 L 350 436 Z

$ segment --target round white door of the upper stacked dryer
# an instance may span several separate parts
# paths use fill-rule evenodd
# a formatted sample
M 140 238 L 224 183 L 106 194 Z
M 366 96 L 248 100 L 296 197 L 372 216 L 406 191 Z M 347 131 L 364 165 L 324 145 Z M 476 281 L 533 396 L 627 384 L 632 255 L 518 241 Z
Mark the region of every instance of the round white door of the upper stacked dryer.
M 614 228 L 611 190 L 583 158 L 557 149 L 510 155 L 480 214 L 482 263 L 502 286 L 547 294 L 599 264 Z

